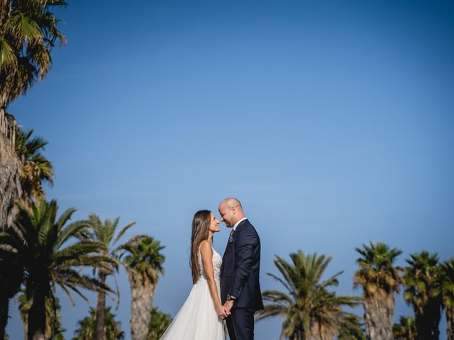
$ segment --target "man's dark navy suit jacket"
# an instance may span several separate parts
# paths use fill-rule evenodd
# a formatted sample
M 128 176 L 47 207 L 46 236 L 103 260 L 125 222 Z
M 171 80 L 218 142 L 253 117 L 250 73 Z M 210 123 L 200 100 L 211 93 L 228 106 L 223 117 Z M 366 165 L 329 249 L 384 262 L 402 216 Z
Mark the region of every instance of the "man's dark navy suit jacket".
M 249 220 L 244 220 L 229 237 L 221 266 L 221 301 L 237 297 L 233 308 L 262 310 L 260 290 L 260 238 Z

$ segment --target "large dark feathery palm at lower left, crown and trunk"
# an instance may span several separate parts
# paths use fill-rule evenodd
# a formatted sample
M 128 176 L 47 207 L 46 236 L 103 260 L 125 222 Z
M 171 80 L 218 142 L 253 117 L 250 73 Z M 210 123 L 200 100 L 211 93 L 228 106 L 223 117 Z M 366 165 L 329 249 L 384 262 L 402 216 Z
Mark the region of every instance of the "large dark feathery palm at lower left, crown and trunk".
M 80 288 L 105 290 L 106 285 L 79 271 L 79 268 L 103 268 L 109 259 L 96 255 L 101 244 L 89 239 L 75 237 L 87 223 L 67 222 L 76 211 L 65 210 L 57 218 L 57 202 L 41 200 L 31 202 L 30 206 L 18 205 L 16 229 L 11 229 L 11 239 L 22 239 L 20 249 L 26 271 L 26 293 L 33 299 L 28 311 L 28 339 L 44 340 L 46 326 L 45 300 L 55 299 L 56 285 L 60 285 L 72 300 L 70 290 L 85 297 Z M 69 242 L 72 240 L 73 242 Z M 87 300 L 88 301 L 88 300 Z

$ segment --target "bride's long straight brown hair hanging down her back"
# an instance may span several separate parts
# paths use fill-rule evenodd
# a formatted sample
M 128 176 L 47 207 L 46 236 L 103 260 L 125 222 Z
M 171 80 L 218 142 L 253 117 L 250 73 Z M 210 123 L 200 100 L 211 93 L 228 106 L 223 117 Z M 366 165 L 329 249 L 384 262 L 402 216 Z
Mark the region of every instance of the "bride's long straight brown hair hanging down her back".
M 191 259 L 189 259 L 189 266 L 191 266 L 192 271 L 192 283 L 196 283 L 199 279 L 199 245 L 202 241 L 208 239 L 210 220 L 210 210 L 199 210 L 192 219 Z

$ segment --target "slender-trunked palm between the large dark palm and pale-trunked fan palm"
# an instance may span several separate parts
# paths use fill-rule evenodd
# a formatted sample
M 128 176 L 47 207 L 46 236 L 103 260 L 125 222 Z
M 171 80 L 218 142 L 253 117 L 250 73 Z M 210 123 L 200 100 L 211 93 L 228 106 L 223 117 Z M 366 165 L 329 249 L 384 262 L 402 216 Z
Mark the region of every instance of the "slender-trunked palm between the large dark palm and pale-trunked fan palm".
M 120 217 L 116 217 L 115 220 L 105 220 L 101 221 L 98 215 L 92 214 L 89 216 L 89 225 L 90 228 L 87 230 L 88 237 L 96 240 L 101 244 L 100 254 L 109 258 L 111 265 L 104 266 L 104 268 L 99 269 L 98 278 L 101 283 L 106 283 L 107 276 L 112 275 L 120 262 L 118 261 L 117 251 L 118 248 L 114 248 L 119 239 L 123 234 L 135 225 L 135 222 L 128 223 L 122 227 L 118 232 L 118 222 Z M 118 292 L 117 292 L 117 301 L 118 301 Z M 118 303 L 118 302 L 117 302 Z M 96 305 L 96 340 L 105 340 L 104 336 L 104 311 L 106 310 L 106 292 L 99 291 L 97 305 Z

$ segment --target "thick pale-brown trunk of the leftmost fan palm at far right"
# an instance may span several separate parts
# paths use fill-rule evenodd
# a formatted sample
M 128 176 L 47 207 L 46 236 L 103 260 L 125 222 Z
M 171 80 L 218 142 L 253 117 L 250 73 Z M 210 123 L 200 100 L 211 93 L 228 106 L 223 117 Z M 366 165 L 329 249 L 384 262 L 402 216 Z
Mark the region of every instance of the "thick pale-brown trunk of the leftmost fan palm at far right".
M 377 290 L 377 293 L 364 296 L 364 319 L 366 325 L 367 340 L 392 339 L 392 325 L 394 307 L 396 302 L 394 295 Z

